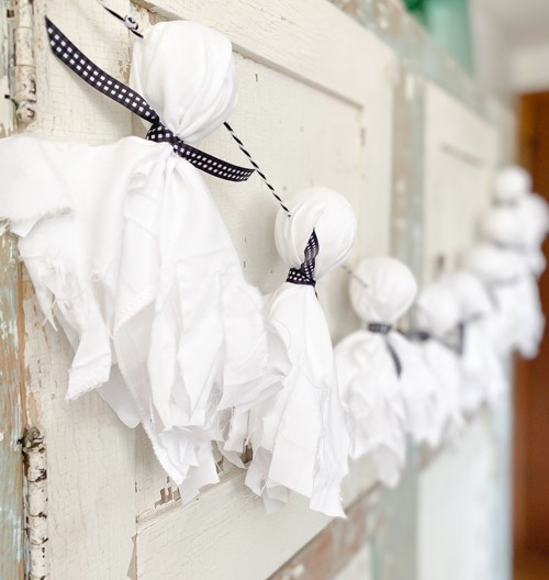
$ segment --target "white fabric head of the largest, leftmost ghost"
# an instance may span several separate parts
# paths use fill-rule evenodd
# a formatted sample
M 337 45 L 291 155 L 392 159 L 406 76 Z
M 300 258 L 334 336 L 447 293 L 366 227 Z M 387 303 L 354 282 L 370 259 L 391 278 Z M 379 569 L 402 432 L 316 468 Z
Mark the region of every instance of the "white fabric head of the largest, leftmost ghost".
M 187 143 L 217 129 L 236 104 L 226 36 L 194 22 L 160 22 L 135 42 L 130 85 Z

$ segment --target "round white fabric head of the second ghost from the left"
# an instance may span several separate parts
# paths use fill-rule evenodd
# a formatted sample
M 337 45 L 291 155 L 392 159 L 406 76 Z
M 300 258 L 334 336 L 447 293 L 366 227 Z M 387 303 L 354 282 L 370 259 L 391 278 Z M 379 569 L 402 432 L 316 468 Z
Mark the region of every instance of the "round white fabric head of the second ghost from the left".
M 313 230 L 320 252 L 315 258 L 315 279 L 341 264 L 355 241 L 357 219 L 349 202 L 336 191 L 312 187 L 285 202 L 291 216 L 279 211 L 274 223 L 274 242 L 280 257 L 299 268 Z

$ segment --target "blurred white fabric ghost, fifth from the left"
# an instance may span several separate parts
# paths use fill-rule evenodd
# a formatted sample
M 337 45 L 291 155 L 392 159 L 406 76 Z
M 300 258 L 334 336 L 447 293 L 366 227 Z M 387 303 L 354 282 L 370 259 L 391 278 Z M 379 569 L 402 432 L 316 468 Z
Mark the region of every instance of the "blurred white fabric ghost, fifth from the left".
M 471 272 L 459 270 L 442 280 L 459 302 L 463 370 L 460 392 L 463 411 L 472 414 L 484 402 L 495 402 L 508 388 L 502 360 L 483 325 L 493 315 L 494 305 L 480 278 Z

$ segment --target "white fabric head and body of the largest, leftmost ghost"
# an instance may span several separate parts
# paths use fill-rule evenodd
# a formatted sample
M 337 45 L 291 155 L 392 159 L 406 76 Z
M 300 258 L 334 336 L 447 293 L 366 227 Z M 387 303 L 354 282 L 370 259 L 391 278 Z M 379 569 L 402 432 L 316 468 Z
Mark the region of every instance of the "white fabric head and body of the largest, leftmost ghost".
M 205 136 L 235 103 L 231 43 L 206 27 L 153 26 L 132 66 L 178 136 Z M 276 378 L 261 297 L 200 172 L 169 143 L 20 136 L 0 141 L 0 182 L 41 308 L 76 352 L 67 399 L 99 389 L 126 425 L 142 422 L 183 499 L 217 481 L 222 420 Z

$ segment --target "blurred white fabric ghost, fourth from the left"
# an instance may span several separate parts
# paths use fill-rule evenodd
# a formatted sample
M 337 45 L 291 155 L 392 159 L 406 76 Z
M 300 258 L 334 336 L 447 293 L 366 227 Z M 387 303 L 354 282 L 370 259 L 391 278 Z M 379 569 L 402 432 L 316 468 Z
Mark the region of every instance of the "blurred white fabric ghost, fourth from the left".
M 416 300 L 415 326 L 425 333 L 418 345 L 437 384 L 437 443 L 453 440 L 463 426 L 461 413 L 462 372 L 451 344 L 459 328 L 459 302 L 450 288 L 438 280 L 425 286 Z

